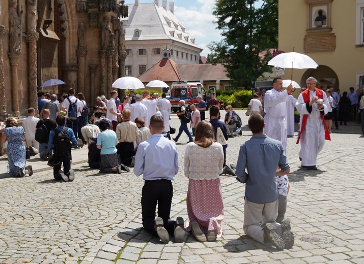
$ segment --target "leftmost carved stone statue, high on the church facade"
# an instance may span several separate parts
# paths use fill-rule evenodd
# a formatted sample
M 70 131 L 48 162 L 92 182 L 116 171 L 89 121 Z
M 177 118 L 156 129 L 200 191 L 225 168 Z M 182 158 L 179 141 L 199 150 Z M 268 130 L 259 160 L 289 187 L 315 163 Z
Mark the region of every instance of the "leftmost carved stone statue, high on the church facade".
M 21 17 L 17 11 L 17 7 L 17 0 L 12 0 L 9 7 L 9 46 L 11 52 L 21 50 Z

